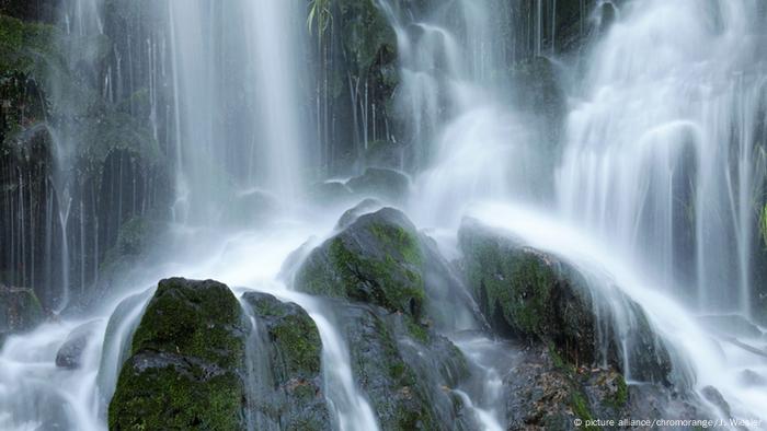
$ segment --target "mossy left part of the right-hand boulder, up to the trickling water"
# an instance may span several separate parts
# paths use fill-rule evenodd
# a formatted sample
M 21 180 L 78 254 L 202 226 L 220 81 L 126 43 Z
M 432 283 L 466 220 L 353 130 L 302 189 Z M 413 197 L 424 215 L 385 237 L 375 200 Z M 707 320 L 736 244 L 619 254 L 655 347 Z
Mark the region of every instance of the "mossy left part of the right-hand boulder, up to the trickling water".
M 574 362 L 595 360 L 592 299 L 576 271 L 472 220 L 459 241 L 469 286 L 494 329 L 553 341 Z

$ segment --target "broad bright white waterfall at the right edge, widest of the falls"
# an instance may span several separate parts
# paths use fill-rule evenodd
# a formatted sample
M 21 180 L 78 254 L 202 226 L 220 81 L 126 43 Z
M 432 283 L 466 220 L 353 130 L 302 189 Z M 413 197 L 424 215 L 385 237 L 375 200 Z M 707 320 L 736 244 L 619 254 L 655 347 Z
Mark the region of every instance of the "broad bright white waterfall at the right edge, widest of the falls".
M 701 312 L 752 312 L 763 24 L 753 1 L 627 4 L 566 119 L 561 211 Z

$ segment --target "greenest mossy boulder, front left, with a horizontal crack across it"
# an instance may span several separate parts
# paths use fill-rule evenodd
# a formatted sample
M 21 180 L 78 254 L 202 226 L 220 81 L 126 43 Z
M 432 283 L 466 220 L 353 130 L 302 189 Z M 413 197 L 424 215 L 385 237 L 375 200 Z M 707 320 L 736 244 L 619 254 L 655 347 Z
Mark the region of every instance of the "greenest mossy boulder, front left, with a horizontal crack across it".
M 225 284 L 160 281 L 121 371 L 110 429 L 242 429 L 242 322 Z

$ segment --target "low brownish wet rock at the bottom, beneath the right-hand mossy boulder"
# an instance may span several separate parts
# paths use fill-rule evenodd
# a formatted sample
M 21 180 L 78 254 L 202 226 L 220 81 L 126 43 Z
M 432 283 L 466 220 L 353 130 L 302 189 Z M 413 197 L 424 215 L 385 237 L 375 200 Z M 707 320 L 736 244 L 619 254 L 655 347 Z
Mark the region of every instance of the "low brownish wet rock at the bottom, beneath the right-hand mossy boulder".
M 504 375 L 503 391 L 508 430 L 573 430 L 575 419 L 585 426 L 591 419 L 707 417 L 690 394 L 659 384 L 628 385 L 613 366 L 576 368 L 551 346 L 522 352 Z

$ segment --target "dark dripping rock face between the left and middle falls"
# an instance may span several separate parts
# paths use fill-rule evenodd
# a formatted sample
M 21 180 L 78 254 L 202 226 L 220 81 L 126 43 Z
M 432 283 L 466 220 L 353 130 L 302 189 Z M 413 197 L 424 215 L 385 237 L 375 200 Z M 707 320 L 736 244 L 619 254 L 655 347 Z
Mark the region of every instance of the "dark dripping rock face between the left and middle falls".
M 376 0 L 329 0 L 316 13 L 312 37 L 317 47 L 318 97 L 327 167 L 344 172 L 365 156 L 371 142 L 393 144 L 397 135 L 393 95 L 399 84 L 397 35 Z M 328 25 L 317 22 L 324 18 Z M 359 102 L 368 101 L 363 109 Z M 369 116 L 368 128 L 356 120 Z M 366 144 L 366 142 L 368 144 Z

